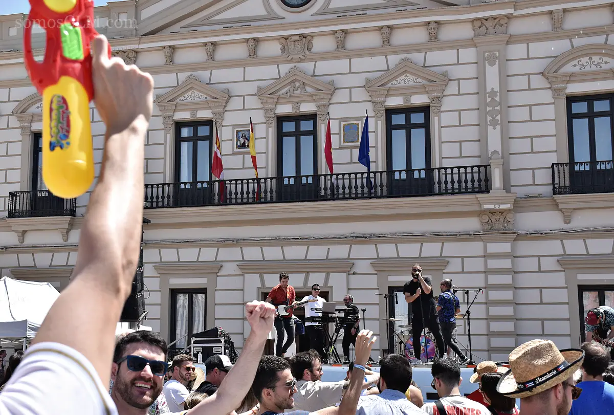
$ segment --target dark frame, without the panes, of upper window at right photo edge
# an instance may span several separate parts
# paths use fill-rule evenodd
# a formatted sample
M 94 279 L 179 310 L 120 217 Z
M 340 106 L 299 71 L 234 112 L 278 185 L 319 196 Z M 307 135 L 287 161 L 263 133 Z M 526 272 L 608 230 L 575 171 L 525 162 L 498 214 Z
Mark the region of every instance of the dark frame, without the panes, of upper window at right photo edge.
M 593 101 L 610 100 L 610 110 L 594 112 L 592 111 Z M 588 101 L 588 112 L 582 112 L 580 114 L 573 114 L 572 104 L 582 101 Z M 588 123 L 588 142 L 589 142 L 589 158 L 588 163 L 596 163 L 596 142 L 595 142 L 595 123 L 594 119 L 597 117 L 610 116 L 610 141 L 612 145 L 612 155 L 614 158 L 614 93 L 598 94 L 598 95 L 578 95 L 567 96 L 567 151 L 569 152 L 569 163 L 587 163 L 587 161 L 575 161 L 575 153 L 573 152 L 573 120 L 578 118 L 589 118 Z

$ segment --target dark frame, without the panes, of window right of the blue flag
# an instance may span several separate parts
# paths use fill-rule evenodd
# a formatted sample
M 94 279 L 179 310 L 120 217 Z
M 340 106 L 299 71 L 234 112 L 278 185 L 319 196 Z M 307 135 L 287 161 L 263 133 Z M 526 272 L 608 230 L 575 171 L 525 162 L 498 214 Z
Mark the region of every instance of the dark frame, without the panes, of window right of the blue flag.
M 405 120 L 407 121 L 409 114 L 424 114 L 423 123 L 405 123 L 404 127 L 399 127 L 400 124 L 392 124 L 392 115 L 405 114 Z M 414 126 L 414 127 L 412 127 Z M 421 107 L 403 107 L 396 109 L 386 109 L 386 168 L 388 171 L 392 171 L 392 131 L 393 130 L 405 130 L 411 131 L 413 129 L 424 128 L 424 169 L 432 168 L 432 138 L 430 132 L 430 106 Z M 410 145 L 407 145 L 409 141 Z M 405 133 L 405 157 L 406 157 L 406 170 L 422 169 L 414 168 L 411 166 L 411 133 L 408 135 Z M 409 157 L 408 157 L 409 156 Z

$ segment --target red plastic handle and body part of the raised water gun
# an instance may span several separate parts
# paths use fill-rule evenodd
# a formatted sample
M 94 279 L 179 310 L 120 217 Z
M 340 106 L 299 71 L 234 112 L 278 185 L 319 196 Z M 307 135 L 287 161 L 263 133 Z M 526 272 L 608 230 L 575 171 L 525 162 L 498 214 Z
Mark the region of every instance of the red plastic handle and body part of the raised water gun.
M 54 85 L 62 76 L 70 76 L 84 86 L 88 97 L 94 98 L 94 88 L 91 79 L 90 44 L 98 36 L 94 28 L 93 0 L 80 0 L 69 12 L 57 13 L 45 5 L 44 0 L 29 0 L 31 11 L 25 22 L 24 31 L 24 63 L 30 79 L 36 90 L 42 95 L 45 88 Z M 32 26 L 36 23 L 45 29 L 45 56 L 41 63 L 34 60 L 32 52 Z M 63 54 L 60 26 L 68 23 L 80 28 L 82 37 L 83 58 L 74 60 Z M 111 58 L 111 45 L 109 45 Z

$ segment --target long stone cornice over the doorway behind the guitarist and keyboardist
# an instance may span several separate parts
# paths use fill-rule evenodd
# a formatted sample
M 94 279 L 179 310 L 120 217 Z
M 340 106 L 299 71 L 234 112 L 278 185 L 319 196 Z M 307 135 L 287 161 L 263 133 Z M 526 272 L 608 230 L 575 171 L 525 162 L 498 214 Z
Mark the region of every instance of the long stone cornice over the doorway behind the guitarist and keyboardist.
M 237 266 L 244 274 L 348 273 L 354 266 L 354 262 L 343 260 L 251 261 L 238 263 Z

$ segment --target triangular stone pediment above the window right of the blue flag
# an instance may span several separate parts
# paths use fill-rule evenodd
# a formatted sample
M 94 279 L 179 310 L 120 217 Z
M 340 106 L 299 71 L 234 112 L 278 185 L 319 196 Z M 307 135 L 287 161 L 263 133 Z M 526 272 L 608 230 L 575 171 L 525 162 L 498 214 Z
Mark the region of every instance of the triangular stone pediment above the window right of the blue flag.
M 422 68 L 410 58 L 403 58 L 390 71 L 375 79 L 367 79 L 365 88 L 426 86 L 429 84 L 448 83 L 448 77 Z

